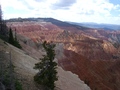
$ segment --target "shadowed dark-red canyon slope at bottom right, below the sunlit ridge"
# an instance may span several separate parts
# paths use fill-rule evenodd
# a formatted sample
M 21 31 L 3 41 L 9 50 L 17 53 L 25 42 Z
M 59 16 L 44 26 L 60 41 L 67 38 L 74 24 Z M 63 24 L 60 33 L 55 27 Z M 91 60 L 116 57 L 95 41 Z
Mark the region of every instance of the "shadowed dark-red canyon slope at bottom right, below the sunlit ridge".
M 59 65 L 79 75 L 92 90 L 119 90 L 120 61 L 90 61 L 70 50 L 65 50 L 64 55 Z

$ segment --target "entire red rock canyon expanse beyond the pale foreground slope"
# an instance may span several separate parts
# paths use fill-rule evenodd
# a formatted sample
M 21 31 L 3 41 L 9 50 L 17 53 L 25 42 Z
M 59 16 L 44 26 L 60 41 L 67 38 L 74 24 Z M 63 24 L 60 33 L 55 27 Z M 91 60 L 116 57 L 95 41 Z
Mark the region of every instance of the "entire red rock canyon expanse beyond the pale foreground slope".
M 33 21 L 9 22 L 7 25 L 27 37 L 19 38 L 26 48 L 29 45 L 40 50 L 43 41 L 55 42 L 59 66 L 77 74 L 92 90 L 119 90 L 119 31 L 83 30 L 76 26 Z

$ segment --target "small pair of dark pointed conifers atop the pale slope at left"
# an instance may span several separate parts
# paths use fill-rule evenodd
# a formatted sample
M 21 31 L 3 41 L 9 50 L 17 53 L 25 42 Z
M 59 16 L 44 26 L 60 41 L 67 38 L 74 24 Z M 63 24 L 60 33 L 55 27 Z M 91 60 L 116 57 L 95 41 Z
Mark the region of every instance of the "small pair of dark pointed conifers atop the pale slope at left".
M 10 28 L 9 30 L 9 40 L 8 42 L 12 45 L 14 45 L 15 47 L 17 48 L 22 48 L 21 45 L 19 44 L 18 40 L 17 40 L 17 37 L 16 37 L 16 32 L 15 32 L 15 38 L 13 37 L 13 32 L 12 32 L 12 29 Z

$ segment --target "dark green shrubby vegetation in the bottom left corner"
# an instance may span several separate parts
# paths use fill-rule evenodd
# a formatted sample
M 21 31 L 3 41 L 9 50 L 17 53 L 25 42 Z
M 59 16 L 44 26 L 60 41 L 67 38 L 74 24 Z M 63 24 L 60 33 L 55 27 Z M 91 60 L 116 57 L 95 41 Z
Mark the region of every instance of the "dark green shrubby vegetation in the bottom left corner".
M 3 63 L 2 60 L 2 68 L 0 68 L 0 79 L 3 86 L 6 90 L 23 90 L 22 84 L 19 82 L 18 79 L 14 76 L 14 68 L 15 66 L 12 63 L 6 62 Z

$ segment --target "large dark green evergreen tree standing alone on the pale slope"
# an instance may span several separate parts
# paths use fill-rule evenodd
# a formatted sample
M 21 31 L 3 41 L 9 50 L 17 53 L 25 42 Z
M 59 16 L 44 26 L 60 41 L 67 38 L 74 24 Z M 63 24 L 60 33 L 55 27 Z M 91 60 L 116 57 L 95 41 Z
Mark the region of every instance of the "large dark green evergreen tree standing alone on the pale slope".
M 43 55 L 43 58 L 40 58 L 40 62 L 35 64 L 34 69 L 38 69 L 39 72 L 34 76 L 34 80 L 38 84 L 42 84 L 48 87 L 50 90 L 54 90 L 55 81 L 57 78 L 57 63 L 54 62 L 55 58 L 55 44 L 43 43 L 43 47 L 46 51 L 46 55 Z

